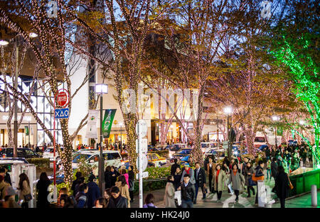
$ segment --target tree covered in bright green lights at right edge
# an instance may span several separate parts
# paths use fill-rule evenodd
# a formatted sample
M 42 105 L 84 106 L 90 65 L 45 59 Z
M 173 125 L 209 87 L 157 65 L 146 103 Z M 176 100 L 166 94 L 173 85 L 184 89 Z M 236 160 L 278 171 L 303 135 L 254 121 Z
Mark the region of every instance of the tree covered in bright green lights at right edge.
M 316 160 L 316 167 L 320 167 L 320 78 L 319 67 L 308 52 L 309 41 L 307 37 L 302 36 L 298 40 L 291 39 L 292 43 L 289 43 L 289 39 L 283 36 L 283 40 L 279 42 L 277 48 L 270 52 L 279 62 L 289 67 L 295 85 L 294 92 L 297 98 L 303 101 L 304 106 L 309 111 L 309 124 L 314 128 L 314 149 L 312 148 L 311 141 L 298 131 L 297 123 L 293 123 L 291 128 L 304 138 Z M 294 43 L 298 43 L 301 47 L 297 47 Z

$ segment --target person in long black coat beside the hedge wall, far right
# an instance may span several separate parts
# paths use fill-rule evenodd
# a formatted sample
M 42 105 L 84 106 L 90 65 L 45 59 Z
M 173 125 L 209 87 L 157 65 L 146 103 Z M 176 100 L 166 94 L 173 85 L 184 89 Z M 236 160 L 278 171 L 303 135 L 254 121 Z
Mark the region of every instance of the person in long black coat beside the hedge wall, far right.
M 275 190 L 280 199 L 281 208 L 284 208 L 284 201 L 289 196 L 289 178 L 282 166 L 278 167 L 278 174 L 275 179 Z

